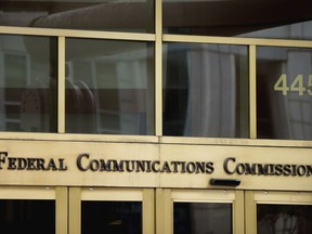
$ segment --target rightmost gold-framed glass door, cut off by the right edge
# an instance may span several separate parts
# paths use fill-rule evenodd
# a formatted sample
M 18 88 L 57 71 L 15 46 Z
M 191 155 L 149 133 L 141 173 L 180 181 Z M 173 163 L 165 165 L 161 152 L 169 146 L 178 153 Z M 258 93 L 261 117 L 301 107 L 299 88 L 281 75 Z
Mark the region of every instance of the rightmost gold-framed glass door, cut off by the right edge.
M 312 233 L 312 194 L 246 192 L 246 232 L 255 234 Z

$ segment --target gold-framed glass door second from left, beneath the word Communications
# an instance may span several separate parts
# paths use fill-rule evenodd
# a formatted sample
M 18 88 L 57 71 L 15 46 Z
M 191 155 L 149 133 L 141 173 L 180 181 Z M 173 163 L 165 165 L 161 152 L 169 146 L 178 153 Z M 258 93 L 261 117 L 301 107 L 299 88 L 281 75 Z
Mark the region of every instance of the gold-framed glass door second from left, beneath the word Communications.
M 70 187 L 69 234 L 154 233 L 154 190 Z

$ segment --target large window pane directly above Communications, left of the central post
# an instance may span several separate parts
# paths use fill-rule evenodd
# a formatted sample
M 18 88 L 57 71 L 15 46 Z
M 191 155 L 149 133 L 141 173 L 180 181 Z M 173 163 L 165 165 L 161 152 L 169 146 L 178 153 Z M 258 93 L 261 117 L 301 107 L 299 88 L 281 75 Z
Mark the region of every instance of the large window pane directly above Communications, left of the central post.
M 66 132 L 154 133 L 154 46 L 66 40 Z

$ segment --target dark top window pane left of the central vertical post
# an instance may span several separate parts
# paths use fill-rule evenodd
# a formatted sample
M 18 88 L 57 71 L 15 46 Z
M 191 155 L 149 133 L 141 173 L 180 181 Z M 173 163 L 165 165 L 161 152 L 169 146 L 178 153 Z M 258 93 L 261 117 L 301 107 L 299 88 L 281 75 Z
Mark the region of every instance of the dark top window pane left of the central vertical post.
M 154 0 L 1 0 L 0 25 L 154 32 Z

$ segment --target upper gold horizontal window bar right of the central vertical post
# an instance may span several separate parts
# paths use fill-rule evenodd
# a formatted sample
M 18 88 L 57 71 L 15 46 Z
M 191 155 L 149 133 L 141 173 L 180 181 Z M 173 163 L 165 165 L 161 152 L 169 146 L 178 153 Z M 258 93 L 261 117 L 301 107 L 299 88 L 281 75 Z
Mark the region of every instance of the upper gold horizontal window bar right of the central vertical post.
M 164 35 L 162 41 L 185 42 L 185 43 L 239 44 L 239 46 L 252 44 L 252 46 L 296 47 L 296 48 L 312 47 L 312 41 L 310 40 L 208 37 L 208 36 L 185 36 L 185 35 Z

